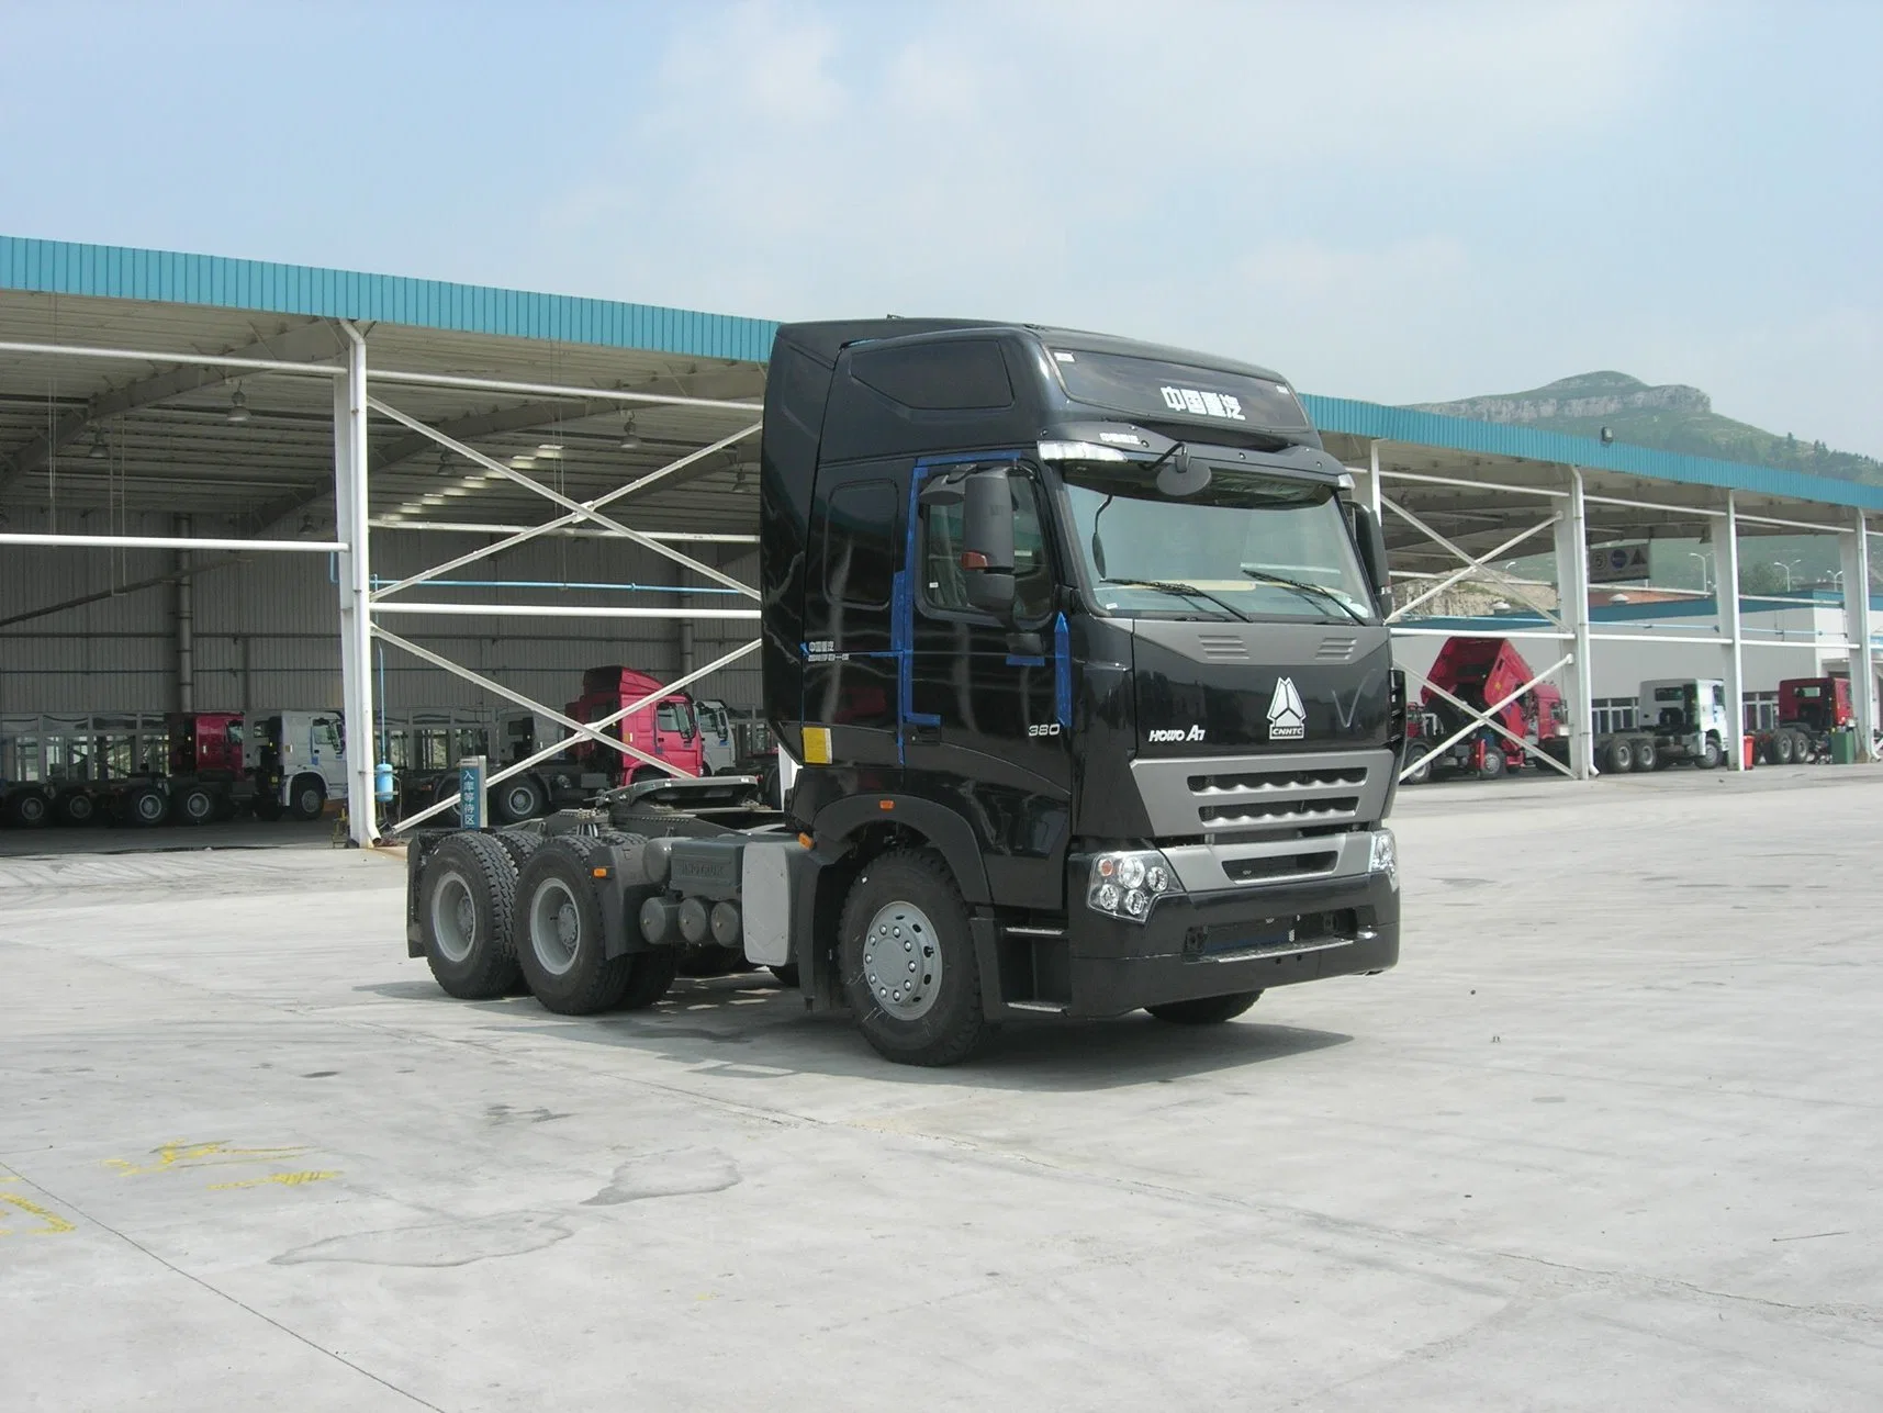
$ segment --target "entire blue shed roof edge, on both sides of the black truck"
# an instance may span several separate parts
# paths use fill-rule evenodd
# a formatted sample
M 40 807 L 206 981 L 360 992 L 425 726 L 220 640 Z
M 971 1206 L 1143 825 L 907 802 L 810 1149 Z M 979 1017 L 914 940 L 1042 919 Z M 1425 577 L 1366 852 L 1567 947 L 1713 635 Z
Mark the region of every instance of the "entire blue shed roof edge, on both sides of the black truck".
M 603 349 L 646 349 L 695 358 L 764 362 L 778 324 L 768 318 L 706 315 L 693 309 L 578 300 L 486 284 L 454 284 L 403 275 L 365 275 L 269 260 L 139 251 L 121 245 L 75 245 L 0 236 L 0 288 L 75 294 L 105 300 L 196 303 L 271 315 L 382 320 L 461 333 L 586 343 Z M 1499 422 L 1416 413 L 1348 398 L 1303 396 L 1324 431 L 1514 456 L 1533 462 L 1621 471 L 1634 477 L 1715 486 L 1757 495 L 1883 511 L 1883 486 L 1864 486 L 1796 471 L 1776 471 L 1704 456 L 1657 452 L 1589 437 L 1538 431 Z

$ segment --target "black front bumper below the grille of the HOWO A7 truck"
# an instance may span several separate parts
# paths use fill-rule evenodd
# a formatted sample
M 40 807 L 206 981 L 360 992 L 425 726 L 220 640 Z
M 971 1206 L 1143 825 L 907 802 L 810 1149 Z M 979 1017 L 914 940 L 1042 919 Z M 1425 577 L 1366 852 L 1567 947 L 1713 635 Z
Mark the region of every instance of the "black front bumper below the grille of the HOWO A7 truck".
M 1399 889 L 1384 872 L 1173 893 L 1139 923 L 1077 906 L 1068 1015 L 1267 991 L 1399 961 Z

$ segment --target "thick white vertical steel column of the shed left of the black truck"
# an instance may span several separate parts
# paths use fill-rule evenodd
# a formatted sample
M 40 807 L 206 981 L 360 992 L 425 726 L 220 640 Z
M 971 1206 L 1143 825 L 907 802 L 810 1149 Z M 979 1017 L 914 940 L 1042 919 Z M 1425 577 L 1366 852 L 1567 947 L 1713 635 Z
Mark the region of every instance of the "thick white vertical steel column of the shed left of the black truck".
M 373 801 L 373 565 L 367 537 L 365 339 L 343 322 L 346 377 L 333 384 L 333 539 L 339 554 L 341 710 L 346 718 L 346 833 L 378 842 Z

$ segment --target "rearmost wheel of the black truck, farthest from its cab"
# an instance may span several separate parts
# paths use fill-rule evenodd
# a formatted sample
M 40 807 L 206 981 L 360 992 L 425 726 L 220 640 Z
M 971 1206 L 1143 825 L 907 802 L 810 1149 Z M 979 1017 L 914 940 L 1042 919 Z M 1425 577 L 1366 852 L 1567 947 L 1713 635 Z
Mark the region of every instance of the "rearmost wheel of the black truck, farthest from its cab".
M 491 1000 L 518 982 L 516 865 L 490 835 L 452 835 L 418 880 L 426 965 L 448 995 Z

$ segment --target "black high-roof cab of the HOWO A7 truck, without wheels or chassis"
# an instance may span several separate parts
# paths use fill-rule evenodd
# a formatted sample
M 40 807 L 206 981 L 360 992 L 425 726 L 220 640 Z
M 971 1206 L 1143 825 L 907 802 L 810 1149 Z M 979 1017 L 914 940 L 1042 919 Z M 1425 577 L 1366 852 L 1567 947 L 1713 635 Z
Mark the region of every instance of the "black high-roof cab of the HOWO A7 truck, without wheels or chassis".
M 1403 712 L 1350 484 L 1267 369 L 785 326 L 761 563 L 793 827 L 821 859 L 938 855 L 1002 1008 L 1390 966 Z

